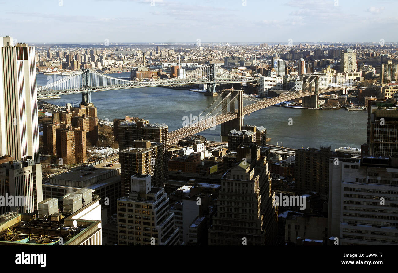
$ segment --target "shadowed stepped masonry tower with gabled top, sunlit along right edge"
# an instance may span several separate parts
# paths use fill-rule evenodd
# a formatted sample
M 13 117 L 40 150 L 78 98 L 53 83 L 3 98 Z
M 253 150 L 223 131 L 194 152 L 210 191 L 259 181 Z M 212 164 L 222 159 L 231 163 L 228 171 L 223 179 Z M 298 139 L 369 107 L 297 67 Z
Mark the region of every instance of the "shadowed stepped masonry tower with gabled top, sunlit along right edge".
M 267 153 L 254 143 L 237 149 L 237 163 L 221 179 L 209 245 L 275 244 L 278 216 Z

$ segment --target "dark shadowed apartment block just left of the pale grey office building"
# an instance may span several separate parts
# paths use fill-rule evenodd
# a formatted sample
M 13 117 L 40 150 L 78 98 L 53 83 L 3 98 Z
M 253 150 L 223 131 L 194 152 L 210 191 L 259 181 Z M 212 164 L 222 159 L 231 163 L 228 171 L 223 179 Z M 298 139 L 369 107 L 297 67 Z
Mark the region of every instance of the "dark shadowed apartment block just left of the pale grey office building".
M 332 152 L 330 147 L 296 150 L 296 191 L 318 192 L 322 199 L 328 198 L 329 190 L 329 159 L 348 157 L 342 152 Z

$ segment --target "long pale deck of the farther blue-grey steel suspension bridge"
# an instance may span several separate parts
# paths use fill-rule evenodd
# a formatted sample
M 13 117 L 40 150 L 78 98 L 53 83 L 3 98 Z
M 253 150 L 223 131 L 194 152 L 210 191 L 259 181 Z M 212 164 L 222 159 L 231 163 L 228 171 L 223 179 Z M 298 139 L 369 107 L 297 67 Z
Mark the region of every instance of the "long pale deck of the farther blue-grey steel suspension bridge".
M 170 85 L 193 85 L 193 84 L 203 84 L 203 83 L 242 83 L 242 82 L 253 82 L 258 81 L 259 78 L 242 78 L 242 79 L 195 79 L 195 80 L 181 80 L 181 81 L 152 81 L 152 82 L 132 82 L 131 84 L 125 85 L 107 85 L 101 87 L 90 87 L 90 88 L 79 88 L 79 89 L 66 89 L 66 90 L 55 90 L 55 91 L 40 91 L 38 88 L 37 98 L 55 95 L 68 95 L 68 94 L 78 94 L 78 93 L 91 93 L 99 91 L 108 90 L 119 90 L 119 89 L 131 89 L 149 86 L 170 86 Z

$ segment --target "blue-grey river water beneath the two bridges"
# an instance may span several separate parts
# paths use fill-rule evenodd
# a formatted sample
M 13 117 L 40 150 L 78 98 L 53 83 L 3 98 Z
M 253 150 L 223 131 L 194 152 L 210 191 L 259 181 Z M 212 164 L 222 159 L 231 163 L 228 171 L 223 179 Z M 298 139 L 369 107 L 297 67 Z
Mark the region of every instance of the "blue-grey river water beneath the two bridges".
M 107 74 L 113 77 L 130 77 L 130 73 Z M 53 75 L 37 74 L 37 84 L 46 85 Z M 150 123 L 165 123 L 169 132 L 183 127 L 184 117 L 199 115 L 217 97 L 204 96 L 188 90 L 164 87 L 145 87 L 101 91 L 91 94 L 97 107 L 98 118 L 113 120 L 124 116 L 138 116 Z M 55 105 L 72 103 L 78 106 L 81 94 L 62 95 L 61 99 L 45 100 Z M 251 102 L 244 101 L 244 105 Z M 219 108 L 220 109 L 220 108 Z M 218 112 L 218 110 L 216 111 Z M 293 125 L 289 125 L 292 118 Z M 342 146 L 360 148 L 366 142 L 367 111 L 311 110 L 270 106 L 244 117 L 244 124 L 264 126 L 270 144 L 300 149 Z M 200 134 L 208 140 L 220 141 L 220 125 L 215 130 Z

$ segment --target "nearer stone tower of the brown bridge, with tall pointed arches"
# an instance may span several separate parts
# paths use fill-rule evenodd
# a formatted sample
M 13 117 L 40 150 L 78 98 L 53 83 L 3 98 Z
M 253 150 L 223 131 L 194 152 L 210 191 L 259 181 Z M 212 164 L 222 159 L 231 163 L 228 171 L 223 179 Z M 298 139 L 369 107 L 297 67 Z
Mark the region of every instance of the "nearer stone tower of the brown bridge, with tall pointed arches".
M 232 100 L 236 95 L 235 99 Z M 227 106 L 227 99 L 222 103 L 221 114 L 236 113 L 236 118 L 221 124 L 221 141 L 228 141 L 228 134 L 231 130 L 235 129 L 240 131 L 243 125 L 243 90 L 224 90 L 222 91 L 222 100 L 225 98 L 230 99 L 229 111 Z M 238 109 L 235 109 L 235 101 L 238 101 Z

